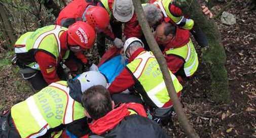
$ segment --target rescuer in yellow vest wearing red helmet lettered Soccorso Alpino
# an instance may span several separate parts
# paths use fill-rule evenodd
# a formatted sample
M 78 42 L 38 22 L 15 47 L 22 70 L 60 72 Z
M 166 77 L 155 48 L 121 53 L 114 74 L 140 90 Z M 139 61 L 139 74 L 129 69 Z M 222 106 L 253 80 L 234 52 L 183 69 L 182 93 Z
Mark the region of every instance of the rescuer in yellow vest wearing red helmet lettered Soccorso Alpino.
M 16 64 L 23 78 L 34 89 L 40 90 L 52 82 L 66 79 L 60 62 L 70 58 L 70 51 L 90 67 L 92 64 L 89 64 L 83 51 L 92 48 L 94 41 L 95 31 L 86 22 L 78 21 L 68 29 L 59 25 L 45 26 L 21 35 L 16 41 Z

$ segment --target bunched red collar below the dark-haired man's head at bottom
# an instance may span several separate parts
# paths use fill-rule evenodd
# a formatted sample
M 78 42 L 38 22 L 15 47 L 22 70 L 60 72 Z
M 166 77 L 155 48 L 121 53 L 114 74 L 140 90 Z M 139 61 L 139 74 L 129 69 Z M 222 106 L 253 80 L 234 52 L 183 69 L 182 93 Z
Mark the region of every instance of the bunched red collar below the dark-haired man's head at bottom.
M 106 131 L 113 129 L 117 124 L 119 124 L 125 117 L 129 115 L 130 112 L 127 109 L 127 105 L 123 104 L 120 107 L 107 113 L 105 116 L 90 123 L 89 127 L 93 133 L 101 135 Z

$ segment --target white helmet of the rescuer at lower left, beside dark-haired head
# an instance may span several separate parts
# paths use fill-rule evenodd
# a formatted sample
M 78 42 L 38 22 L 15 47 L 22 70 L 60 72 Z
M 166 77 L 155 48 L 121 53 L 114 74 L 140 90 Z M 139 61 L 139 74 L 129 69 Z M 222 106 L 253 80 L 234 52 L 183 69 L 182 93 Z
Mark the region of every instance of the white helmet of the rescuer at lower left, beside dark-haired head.
M 81 83 L 81 91 L 84 91 L 94 85 L 106 87 L 107 80 L 103 74 L 97 71 L 87 71 L 76 77 Z

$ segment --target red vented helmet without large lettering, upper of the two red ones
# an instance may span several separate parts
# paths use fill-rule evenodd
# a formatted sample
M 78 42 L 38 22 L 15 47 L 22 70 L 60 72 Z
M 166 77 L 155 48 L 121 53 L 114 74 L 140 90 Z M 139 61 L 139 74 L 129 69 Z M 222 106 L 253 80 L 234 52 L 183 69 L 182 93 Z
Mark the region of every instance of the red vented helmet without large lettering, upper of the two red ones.
M 109 23 L 107 11 L 99 6 L 89 8 L 86 12 L 86 21 L 97 31 L 102 32 Z

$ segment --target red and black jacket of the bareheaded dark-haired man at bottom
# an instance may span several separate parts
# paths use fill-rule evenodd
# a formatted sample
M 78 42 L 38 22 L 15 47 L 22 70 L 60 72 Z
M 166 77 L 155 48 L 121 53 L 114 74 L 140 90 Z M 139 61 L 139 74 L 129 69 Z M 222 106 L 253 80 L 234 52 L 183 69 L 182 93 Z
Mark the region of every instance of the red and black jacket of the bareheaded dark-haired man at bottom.
M 136 114 L 130 115 L 131 112 L 128 109 L 136 112 Z M 123 104 L 104 117 L 90 123 L 89 128 L 92 131 L 90 135 L 100 135 L 106 138 L 169 137 L 158 124 L 146 116 L 142 105 Z

